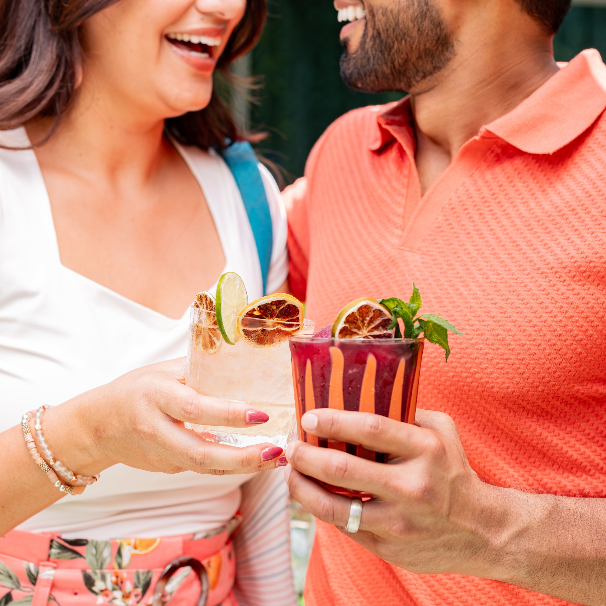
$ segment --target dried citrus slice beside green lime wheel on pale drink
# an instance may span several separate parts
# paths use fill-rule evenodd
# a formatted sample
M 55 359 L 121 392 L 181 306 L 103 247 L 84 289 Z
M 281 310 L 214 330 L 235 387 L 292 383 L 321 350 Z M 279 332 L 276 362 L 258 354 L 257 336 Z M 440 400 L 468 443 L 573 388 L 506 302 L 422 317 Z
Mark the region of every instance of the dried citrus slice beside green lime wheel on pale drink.
M 269 347 L 303 328 L 303 304 L 292 295 L 278 293 L 257 299 L 238 318 L 238 331 L 254 347 Z

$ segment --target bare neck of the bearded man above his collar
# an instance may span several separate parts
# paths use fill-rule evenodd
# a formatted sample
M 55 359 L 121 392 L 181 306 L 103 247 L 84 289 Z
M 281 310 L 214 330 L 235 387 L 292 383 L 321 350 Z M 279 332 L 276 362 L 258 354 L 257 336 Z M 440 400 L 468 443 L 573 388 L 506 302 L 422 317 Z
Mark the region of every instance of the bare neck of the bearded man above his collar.
M 459 42 L 448 67 L 413 92 L 422 194 L 482 126 L 511 112 L 558 72 L 551 38 L 528 32 L 534 27 L 529 19 L 519 21 L 505 21 L 503 32 L 485 28 L 482 35 L 481 24 L 458 32 L 458 39 L 473 40 L 473 45 Z

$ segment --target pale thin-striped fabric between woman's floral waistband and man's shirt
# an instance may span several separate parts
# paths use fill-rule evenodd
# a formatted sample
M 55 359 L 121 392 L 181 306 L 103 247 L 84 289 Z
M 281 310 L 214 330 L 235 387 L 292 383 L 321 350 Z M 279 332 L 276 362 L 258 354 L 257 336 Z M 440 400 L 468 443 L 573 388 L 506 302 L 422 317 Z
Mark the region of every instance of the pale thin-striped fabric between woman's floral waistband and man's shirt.
M 241 606 L 296 606 L 290 555 L 288 488 L 280 470 L 242 487 L 242 524 L 233 536 L 234 591 Z

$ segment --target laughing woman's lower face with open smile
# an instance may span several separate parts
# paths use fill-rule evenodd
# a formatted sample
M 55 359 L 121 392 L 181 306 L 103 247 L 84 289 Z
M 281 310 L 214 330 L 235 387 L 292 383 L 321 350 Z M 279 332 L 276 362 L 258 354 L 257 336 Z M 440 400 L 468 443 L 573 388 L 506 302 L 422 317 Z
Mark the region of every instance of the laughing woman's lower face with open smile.
M 121 0 L 82 25 L 83 88 L 141 121 L 210 101 L 213 70 L 246 0 Z

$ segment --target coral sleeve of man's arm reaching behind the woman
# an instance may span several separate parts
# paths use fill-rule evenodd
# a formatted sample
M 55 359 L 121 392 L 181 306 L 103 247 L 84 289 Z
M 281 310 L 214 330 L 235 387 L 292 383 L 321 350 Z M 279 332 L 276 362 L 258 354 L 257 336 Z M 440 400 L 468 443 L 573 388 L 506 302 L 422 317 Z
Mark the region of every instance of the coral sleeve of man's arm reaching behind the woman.
M 288 215 L 288 285 L 296 298 L 305 301 L 309 256 L 307 177 L 301 177 L 285 188 L 282 200 Z

